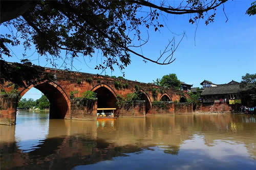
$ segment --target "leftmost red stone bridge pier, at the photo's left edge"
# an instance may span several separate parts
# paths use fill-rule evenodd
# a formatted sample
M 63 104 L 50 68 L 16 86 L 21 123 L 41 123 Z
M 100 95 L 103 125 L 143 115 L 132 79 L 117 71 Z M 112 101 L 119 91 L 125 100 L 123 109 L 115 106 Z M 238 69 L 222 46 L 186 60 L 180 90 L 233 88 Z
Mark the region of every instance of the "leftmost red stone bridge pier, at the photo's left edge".
M 16 94 L 0 94 L 0 124 L 15 125 L 16 106 Z

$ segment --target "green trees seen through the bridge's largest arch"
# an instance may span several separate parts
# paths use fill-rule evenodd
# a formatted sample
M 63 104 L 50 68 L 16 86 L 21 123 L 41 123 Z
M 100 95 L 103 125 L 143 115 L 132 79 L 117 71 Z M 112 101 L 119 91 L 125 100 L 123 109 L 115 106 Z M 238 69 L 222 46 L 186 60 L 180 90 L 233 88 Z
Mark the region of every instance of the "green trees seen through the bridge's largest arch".
M 19 109 L 30 109 L 30 108 L 48 109 L 50 107 L 50 102 L 46 95 L 42 95 L 40 99 L 21 99 L 18 102 Z

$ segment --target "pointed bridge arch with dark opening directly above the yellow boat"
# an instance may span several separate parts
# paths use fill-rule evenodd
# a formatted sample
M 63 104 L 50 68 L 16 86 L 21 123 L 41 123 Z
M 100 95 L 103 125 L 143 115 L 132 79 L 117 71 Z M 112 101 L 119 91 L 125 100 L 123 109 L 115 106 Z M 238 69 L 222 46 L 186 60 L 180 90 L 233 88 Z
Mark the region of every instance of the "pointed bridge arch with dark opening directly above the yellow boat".
M 116 93 L 106 84 L 99 84 L 91 91 L 97 93 L 97 108 L 116 108 Z

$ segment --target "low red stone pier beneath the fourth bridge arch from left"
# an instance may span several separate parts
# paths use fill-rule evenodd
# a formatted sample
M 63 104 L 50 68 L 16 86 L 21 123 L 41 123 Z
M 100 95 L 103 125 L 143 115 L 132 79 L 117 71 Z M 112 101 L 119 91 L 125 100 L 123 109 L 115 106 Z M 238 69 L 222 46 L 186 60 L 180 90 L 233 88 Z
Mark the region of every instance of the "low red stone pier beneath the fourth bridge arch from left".
M 155 115 L 174 115 L 174 103 L 173 102 L 164 102 L 163 107 L 152 105 L 152 109 L 147 116 L 155 116 Z

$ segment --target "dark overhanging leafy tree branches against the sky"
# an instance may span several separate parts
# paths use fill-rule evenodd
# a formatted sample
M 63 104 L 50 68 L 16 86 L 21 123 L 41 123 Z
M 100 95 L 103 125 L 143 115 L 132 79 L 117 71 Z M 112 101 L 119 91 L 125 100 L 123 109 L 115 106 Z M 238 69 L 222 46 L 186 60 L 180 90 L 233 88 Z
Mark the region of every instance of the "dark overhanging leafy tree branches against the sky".
M 204 19 L 208 25 L 214 21 L 216 8 L 225 2 L 188 0 L 174 6 L 168 1 L 144 0 L 1 1 L 0 22 L 11 31 L 0 35 L 0 59 L 12 57 L 9 46 L 21 45 L 26 51 L 34 45 L 53 66 L 57 59 L 65 64 L 79 55 L 93 57 L 98 51 L 102 52 L 102 64 L 95 69 L 114 70 L 117 65 L 122 70 L 131 63 L 130 54 L 145 62 L 170 64 L 180 41 L 170 40 L 160 56 L 151 59 L 136 52 L 149 37 L 143 37 L 141 29 L 160 30 L 164 26 L 159 18 L 164 14 L 193 14 L 190 23 Z M 62 51 L 66 56 L 61 56 Z

